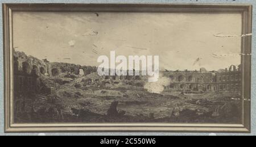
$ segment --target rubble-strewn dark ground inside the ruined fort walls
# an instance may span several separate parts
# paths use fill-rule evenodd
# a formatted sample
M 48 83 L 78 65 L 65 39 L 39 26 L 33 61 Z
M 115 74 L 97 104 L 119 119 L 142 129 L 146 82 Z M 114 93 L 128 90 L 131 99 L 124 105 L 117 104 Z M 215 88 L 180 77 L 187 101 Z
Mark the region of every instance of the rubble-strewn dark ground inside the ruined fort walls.
M 241 123 L 238 92 L 149 93 L 142 80 L 113 80 L 96 73 L 41 77 L 51 94 L 15 98 L 15 122 Z M 30 98 L 28 98 L 30 97 Z M 24 100 L 24 98 L 26 98 Z

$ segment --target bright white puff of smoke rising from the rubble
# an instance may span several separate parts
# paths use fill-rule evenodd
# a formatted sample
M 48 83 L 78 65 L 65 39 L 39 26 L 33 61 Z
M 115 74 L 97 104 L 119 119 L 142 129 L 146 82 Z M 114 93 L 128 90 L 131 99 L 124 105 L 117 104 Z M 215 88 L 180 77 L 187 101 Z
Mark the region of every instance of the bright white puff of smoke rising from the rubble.
M 164 77 L 162 74 L 159 74 L 159 79 L 156 82 L 147 82 L 144 85 L 144 89 L 147 89 L 150 93 L 160 94 L 164 91 L 164 86 L 169 86 L 171 79 Z

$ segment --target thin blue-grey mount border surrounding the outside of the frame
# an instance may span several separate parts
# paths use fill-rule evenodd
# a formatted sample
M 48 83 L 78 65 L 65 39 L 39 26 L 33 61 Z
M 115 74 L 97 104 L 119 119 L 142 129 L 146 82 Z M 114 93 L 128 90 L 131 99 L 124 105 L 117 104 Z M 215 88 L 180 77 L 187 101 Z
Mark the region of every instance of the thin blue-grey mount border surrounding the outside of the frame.
M 256 135 L 256 108 L 255 108 L 255 86 L 256 86 L 256 53 L 255 53 L 255 43 L 256 38 L 254 36 L 256 32 L 255 19 L 256 19 L 256 1 L 255 0 L 74 0 L 74 1 L 65 1 L 65 0 L 0 0 L 0 34 L 3 34 L 2 30 L 2 3 L 234 3 L 234 4 L 251 4 L 253 5 L 253 56 L 252 56 L 252 73 L 251 73 L 251 99 L 252 99 L 252 117 L 251 117 L 251 133 L 250 134 L 237 134 L 237 133 L 4 133 L 3 131 L 3 39 L 2 35 L 0 35 L 0 135 Z M 230 24 L 232 25 L 232 24 Z

